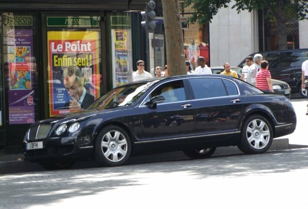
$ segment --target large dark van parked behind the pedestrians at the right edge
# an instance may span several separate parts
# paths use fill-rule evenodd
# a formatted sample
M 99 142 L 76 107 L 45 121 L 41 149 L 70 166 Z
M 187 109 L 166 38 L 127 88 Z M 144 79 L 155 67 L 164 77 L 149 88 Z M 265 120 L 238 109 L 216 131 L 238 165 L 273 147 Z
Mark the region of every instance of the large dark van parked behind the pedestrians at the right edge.
M 302 97 L 307 97 L 306 90 L 302 89 L 302 63 L 308 60 L 308 48 L 288 49 L 279 51 L 258 52 L 269 63 L 272 78 L 285 81 L 291 87 L 293 93 L 299 92 Z M 256 53 L 250 54 L 254 56 Z M 238 67 L 246 65 L 244 59 Z

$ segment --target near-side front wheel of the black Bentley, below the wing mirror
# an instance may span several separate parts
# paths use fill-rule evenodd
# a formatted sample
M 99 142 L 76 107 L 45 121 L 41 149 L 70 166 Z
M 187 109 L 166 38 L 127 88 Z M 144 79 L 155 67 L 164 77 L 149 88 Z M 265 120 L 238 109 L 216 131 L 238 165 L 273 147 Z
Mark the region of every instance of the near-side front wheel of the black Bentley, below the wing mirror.
M 130 156 L 131 141 L 120 127 L 110 125 L 102 129 L 95 140 L 94 160 L 100 166 L 119 166 Z

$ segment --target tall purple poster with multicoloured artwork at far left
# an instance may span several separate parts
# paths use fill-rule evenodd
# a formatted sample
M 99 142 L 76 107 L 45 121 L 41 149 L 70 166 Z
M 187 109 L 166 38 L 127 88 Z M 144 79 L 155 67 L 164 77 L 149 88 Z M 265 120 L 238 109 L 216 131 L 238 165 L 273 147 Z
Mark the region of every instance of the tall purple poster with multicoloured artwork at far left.
M 36 69 L 31 69 L 32 30 L 10 30 L 7 35 L 14 42 L 8 46 L 9 123 L 33 123 Z

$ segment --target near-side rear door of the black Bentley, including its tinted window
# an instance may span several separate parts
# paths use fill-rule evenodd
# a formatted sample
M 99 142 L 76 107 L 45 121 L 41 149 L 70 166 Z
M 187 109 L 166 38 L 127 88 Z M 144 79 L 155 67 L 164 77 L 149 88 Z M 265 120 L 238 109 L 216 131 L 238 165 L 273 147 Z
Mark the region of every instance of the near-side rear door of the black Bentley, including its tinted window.
M 195 98 L 196 134 L 212 140 L 238 131 L 243 104 L 235 83 L 215 77 L 190 78 L 189 83 Z

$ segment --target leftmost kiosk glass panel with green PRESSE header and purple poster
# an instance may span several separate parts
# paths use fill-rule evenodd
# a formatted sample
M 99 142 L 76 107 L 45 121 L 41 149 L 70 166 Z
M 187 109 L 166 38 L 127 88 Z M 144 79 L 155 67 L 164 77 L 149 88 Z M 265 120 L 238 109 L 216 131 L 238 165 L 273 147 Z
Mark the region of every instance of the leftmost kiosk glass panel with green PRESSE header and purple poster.
M 37 116 L 35 25 L 32 14 L 2 14 L 4 96 L 9 124 L 31 124 Z

